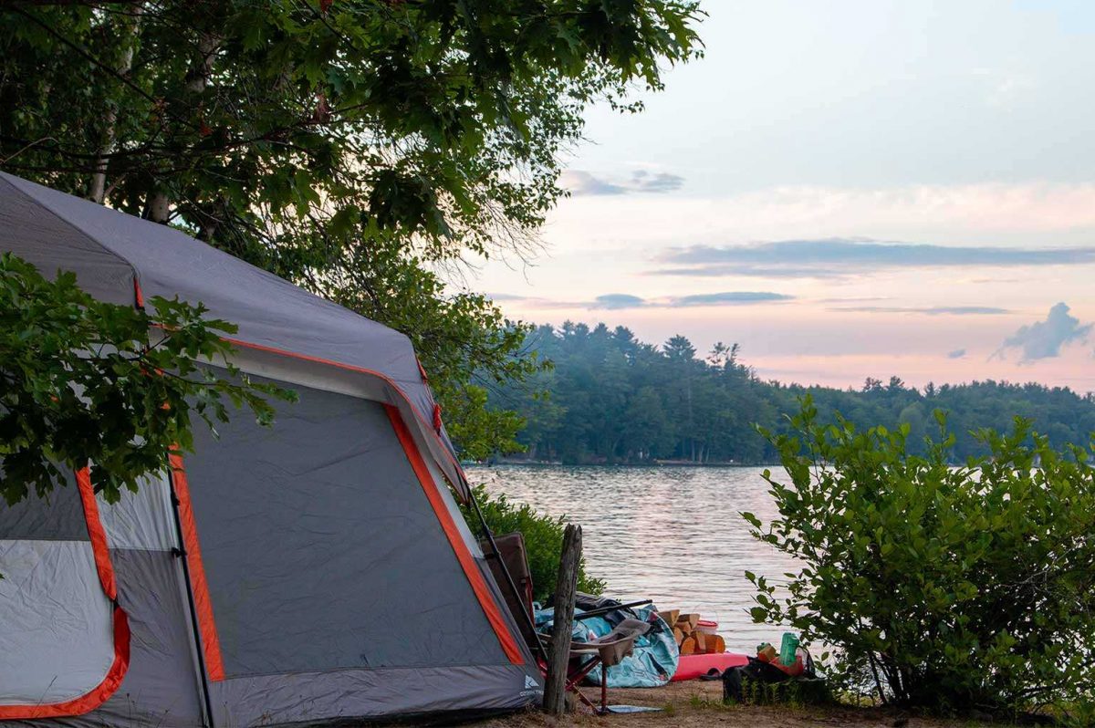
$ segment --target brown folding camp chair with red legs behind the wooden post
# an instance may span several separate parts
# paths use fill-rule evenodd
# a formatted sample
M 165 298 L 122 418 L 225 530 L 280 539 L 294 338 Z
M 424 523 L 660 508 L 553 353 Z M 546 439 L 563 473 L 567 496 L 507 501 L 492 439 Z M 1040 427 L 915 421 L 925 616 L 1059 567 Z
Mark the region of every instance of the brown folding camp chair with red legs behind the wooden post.
M 520 533 L 484 539 L 481 542 L 491 565 L 495 582 L 506 599 L 506 605 L 517 622 L 521 636 L 532 649 L 537 666 L 544 678 L 548 677 L 548 647 L 545 636 L 535 629 L 532 619 L 532 573 L 525 551 L 525 538 Z M 522 619 L 523 617 L 523 619 Z M 603 714 L 608 709 L 608 693 L 604 672 L 613 665 L 631 655 L 635 639 L 649 629 L 649 625 L 638 620 L 624 620 L 615 629 L 585 643 L 572 643 L 567 661 L 566 690 L 585 703 L 593 713 Z M 601 667 L 601 705 L 598 707 L 578 690 L 578 684 L 598 666 Z

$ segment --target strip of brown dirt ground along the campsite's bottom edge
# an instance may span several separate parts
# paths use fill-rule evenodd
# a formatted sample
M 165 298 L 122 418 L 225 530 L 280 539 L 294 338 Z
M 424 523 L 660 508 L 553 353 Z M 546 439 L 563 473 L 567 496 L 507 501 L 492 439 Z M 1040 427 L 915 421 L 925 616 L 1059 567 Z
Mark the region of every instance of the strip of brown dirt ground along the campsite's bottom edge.
M 584 689 L 593 703 L 597 687 Z M 980 728 L 970 720 L 920 718 L 875 708 L 855 707 L 752 707 L 723 705 L 723 683 L 691 681 L 650 690 L 609 691 L 611 705 L 647 705 L 659 713 L 595 716 L 581 712 L 555 720 L 541 713 L 522 713 L 468 724 L 474 728 Z

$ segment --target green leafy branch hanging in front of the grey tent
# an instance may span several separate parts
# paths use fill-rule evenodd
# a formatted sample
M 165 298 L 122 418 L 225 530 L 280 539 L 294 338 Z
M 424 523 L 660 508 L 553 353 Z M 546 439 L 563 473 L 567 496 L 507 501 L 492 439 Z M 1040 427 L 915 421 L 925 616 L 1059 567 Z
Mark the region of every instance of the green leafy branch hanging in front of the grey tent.
M 229 405 L 246 407 L 268 425 L 265 396 L 296 394 L 252 382 L 228 359 L 222 336 L 234 324 L 206 319 L 191 305 L 159 296 L 145 308 L 94 300 L 76 275 L 45 278 L 26 261 L 0 254 L 0 496 L 10 505 L 48 494 L 72 472 L 94 463 L 96 493 L 116 501 L 166 466 L 172 449 L 193 448 L 193 418 L 228 421 Z M 149 331 L 158 336 L 149 340 Z M 201 368 L 226 360 L 230 377 Z

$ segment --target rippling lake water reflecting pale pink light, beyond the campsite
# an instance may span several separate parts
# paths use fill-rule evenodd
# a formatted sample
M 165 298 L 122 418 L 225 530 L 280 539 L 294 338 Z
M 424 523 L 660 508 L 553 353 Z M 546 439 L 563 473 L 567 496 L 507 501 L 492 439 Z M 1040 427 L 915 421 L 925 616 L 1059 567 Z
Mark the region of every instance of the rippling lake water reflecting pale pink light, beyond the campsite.
M 783 629 L 752 624 L 752 586 L 744 573 L 785 581 L 794 562 L 749 535 L 739 511 L 776 515 L 761 467 L 611 467 L 497 465 L 468 469 L 486 483 L 552 516 L 581 525 L 586 567 L 621 601 L 653 599 L 659 609 L 715 620 L 727 649 L 780 644 Z M 773 469 L 775 472 L 775 469 Z

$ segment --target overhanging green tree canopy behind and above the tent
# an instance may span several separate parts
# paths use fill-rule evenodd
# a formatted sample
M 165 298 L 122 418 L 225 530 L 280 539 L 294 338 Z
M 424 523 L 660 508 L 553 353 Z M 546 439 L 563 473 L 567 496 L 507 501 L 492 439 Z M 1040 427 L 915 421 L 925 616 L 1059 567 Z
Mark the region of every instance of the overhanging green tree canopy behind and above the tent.
M 471 421 L 488 417 L 471 372 L 538 362 L 514 356 L 521 326 L 445 281 L 534 246 L 587 106 L 637 109 L 633 88 L 699 55 L 700 16 L 693 0 L 7 2 L 0 165 L 408 333 L 483 453 L 516 423 Z

